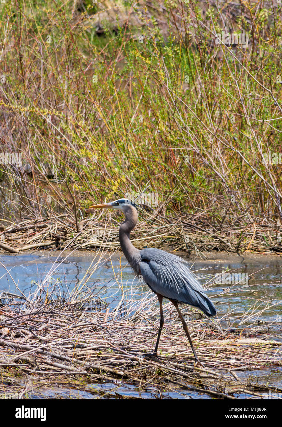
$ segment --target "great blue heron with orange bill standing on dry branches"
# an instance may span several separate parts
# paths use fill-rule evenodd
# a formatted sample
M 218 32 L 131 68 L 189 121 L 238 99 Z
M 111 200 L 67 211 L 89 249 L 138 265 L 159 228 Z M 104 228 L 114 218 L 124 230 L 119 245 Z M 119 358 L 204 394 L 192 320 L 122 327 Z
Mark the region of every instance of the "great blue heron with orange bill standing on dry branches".
M 207 297 L 195 275 L 189 270 L 188 264 L 182 258 L 169 254 L 161 249 L 145 248 L 141 251 L 133 246 L 130 233 L 137 224 L 138 205 L 128 199 L 118 199 L 111 203 L 90 206 L 94 208 L 119 209 L 125 214 L 125 221 L 119 227 L 119 241 L 122 252 L 137 276 L 142 276 L 148 287 L 157 294 L 160 303 L 160 328 L 153 356 L 157 355 L 160 334 L 163 328 L 163 298 L 168 298 L 179 314 L 183 329 L 189 339 L 195 363 L 200 363 L 190 338 L 185 320 L 178 304 L 192 305 L 202 310 L 206 316 L 215 316 L 216 310 L 212 301 Z

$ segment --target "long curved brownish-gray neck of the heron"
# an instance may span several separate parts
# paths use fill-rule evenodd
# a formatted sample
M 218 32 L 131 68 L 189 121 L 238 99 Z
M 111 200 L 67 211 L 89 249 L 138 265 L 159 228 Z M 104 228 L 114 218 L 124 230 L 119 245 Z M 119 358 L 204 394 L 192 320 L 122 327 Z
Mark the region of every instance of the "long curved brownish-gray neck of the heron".
M 125 221 L 119 227 L 119 242 L 122 248 L 122 252 L 125 254 L 126 259 L 130 263 L 136 275 L 139 275 L 140 267 L 140 253 L 130 241 L 130 233 L 137 224 L 137 211 L 133 206 L 130 206 L 127 212 L 125 212 Z M 136 212 L 134 212 L 134 211 Z

